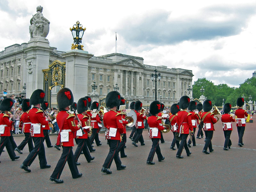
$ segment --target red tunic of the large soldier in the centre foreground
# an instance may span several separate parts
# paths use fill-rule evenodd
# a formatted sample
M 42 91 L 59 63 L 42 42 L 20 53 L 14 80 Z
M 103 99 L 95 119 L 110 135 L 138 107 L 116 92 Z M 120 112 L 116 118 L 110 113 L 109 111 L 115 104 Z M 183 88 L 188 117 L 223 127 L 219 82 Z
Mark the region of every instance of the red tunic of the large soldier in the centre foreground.
M 103 124 L 107 129 L 106 138 L 110 140 L 120 140 L 120 134 L 124 133 L 124 125 L 122 121 L 122 116 L 117 115 L 117 112 L 113 109 L 106 112 L 103 116 Z M 108 136 L 110 127 L 116 128 L 116 137 Z

